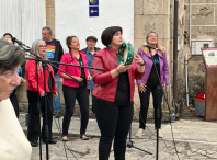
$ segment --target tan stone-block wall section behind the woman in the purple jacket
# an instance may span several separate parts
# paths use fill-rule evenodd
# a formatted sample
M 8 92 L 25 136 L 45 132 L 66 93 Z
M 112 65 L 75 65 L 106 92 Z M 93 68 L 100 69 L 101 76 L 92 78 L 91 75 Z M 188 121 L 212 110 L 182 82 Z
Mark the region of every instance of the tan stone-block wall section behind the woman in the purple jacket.
M 135 0 L 135 20 L 134 20 L 134 47 L 135 52 L 146 43 L 146 36 L 150 31 L 158 34 L 160 44 L 167 50 L 169 68 L 171 68 L 170 50 L 170 0 Z M 171 78 L 170 78 L 171 81 Z M 171 102 L 171 82 L 167 89 L 169 103 Z M 135 103 L 140 107 L 138 92 L 135 92 Z M 152 112 L 152 101 L 150 101 L 150 112 Z M 168 112 L 165 102 L 163 102 L 163 112 Z M 149 114 L 150 117 L 153 115 Z

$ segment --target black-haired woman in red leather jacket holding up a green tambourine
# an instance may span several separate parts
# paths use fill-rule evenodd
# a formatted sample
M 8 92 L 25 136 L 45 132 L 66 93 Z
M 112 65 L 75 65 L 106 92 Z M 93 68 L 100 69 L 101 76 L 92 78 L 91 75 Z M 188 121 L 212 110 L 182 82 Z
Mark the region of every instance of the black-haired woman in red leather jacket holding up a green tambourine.
M 92 70 L 95 83 L 92 91 L 93 106 L 101 130 L 99 160 L 108 160 L 114 137 L 115 159 L 124 160 L 126 138 L 133 119 L 135 79 L 141 79 L 145 62 L 135 54 L 132 65 L 118 65 L 117 49 L 123 44 L 122 27 L 105 28 L 101 39 L 106 48 L 96 52 L 92 62 L 92 67 L 105 69 Z

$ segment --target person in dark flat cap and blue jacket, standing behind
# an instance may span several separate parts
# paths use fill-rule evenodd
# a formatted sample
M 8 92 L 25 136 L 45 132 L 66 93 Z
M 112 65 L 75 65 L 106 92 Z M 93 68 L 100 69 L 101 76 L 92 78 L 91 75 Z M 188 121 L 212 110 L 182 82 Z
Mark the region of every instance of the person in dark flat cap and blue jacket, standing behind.
M 87 54 L 87 57 L 88 57 L 88 67 L 91 66 L 92 61 L 93 61 L 93 55 L 95 52 L 100 50 L 100 48 L 96 48 L 95 45 L 96 45 L 96 42 L 98 42 L 98 38 L 94 37 L 94 36 L 89 36 L 87 37 L 85 39 L 87 42 L 87 48 L 83 48 L 82 52 Z M 89 69 L 89 72 L 92 77 L 92 71 L 91 69 Z M 94 88 L 94 82 L 93 80 L 89 81 L 88 82 L 88 91 L 89 91 L 89 94 L 90 92 L 92 91 L 92 89 Z M 92 111 L 93 111 L 93 118 L 95 118 L 95 114 L 94 114 L 94 110 L 93 110 L 93 106 L 92 106 Z

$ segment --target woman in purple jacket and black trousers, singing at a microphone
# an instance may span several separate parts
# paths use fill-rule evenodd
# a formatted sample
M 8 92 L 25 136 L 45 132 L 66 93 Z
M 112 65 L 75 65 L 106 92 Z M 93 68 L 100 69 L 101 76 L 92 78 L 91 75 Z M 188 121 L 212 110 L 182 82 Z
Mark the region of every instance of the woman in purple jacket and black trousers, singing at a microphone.
M 158 41 L 158 35 L 155 32 L 150 32 L 146 37 L 147 44 L 159 48 L 160 50 L 156 50 L 151 48 L 151 55 L 149 53 L 148 47 L 141 47 L 138 49 L 138 55 L 146 61 L 146 72 L 142 77 L 142 80 L 137 80 L 139 96 L 140 96 L 140 116 L 139 116 L 139 130 L 137 132 L 136 136 L 141 137 L 145 134 L 146 128 L 146 119 L 147 119 L 147 112 L 149 106 L 149 96 L 150 92 L 152 93 L 153 98 L 153 108 L 155 108 L 155 128 L 161 128 L 161 118 L 162 118 L 162 111 L 161 111 L 161 102 L 162 102 L 162 91 L 158 92 L 160 82 L 158 78 L 158 73 L 160 77 L 160 81 L 162 83 L 163 90 L 169 84 L 169 68 L 168 68 L 168 60 L 165 50 L 162 46 L 160 46 Z M 157 67 L 157 70 L 153 66 L 153 61 Z M 160 124 L 157 126 L 157 107 L 160 106 Z M 157 132 L 156 132 L 157 133 Z M 163 135 L 159 130 L 159 137 L 162 138 Z

